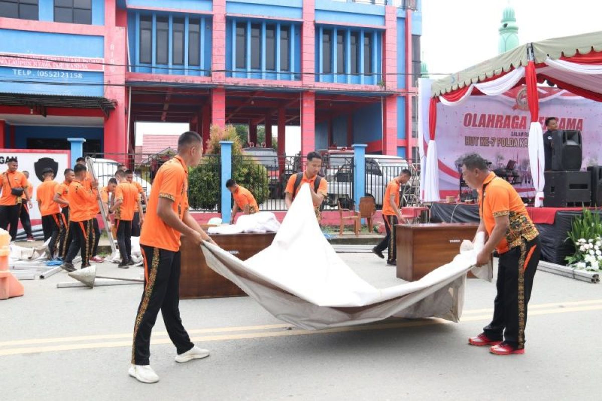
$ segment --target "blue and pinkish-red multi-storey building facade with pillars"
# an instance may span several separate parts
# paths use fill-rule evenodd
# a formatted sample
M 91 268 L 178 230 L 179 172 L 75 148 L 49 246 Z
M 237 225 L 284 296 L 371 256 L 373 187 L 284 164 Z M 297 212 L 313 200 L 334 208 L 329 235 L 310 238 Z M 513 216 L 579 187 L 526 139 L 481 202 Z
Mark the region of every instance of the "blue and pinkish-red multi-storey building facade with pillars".
M 134 152 L 137 121 L 417 153 L 420 0 L 0 0 L 0 147 Z

